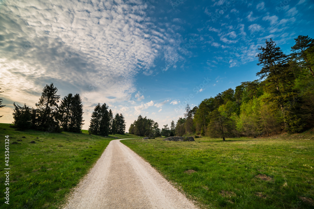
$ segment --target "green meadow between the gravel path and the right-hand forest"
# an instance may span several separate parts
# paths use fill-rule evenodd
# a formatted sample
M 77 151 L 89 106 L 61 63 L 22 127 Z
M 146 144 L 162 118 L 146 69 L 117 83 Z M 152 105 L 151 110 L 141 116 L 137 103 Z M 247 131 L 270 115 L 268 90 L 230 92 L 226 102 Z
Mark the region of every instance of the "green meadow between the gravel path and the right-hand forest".
M 313 132 L 276 137 L 121 142 L 202 208 L 313 208 Z

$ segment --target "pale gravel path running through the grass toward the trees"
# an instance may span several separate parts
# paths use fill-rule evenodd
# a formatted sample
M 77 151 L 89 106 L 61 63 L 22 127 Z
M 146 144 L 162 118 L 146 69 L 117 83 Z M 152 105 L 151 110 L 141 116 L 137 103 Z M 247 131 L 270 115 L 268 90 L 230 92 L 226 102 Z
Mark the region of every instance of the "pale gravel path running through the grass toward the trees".
M 109 143 L 64 209 L 198 208 L 120 140 Z

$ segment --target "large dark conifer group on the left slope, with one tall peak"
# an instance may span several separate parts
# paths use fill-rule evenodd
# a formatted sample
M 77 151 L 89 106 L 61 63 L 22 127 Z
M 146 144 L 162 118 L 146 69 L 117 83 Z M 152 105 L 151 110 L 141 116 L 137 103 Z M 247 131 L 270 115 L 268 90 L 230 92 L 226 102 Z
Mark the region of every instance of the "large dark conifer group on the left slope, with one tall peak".
M 60 95 L 53 83 L 46 85 L 41 93 L 36 108 L 24 104 L 13 103 L 13 127 L 19 130 L 35 129 L 47 132 L 76 132 L 80 133 L 84 125 L 83 104 L 79 94 L 69 93 L 60 104 Z

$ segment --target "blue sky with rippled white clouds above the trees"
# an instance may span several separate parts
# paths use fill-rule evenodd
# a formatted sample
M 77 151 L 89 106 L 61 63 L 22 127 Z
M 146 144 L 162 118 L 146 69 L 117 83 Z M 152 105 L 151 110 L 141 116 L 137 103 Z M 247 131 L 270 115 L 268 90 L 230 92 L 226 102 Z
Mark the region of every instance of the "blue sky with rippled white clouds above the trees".
M 84 126 L 98 103 L 163 125 L 228 88 L 258 79 L 256 55 L 272 38 L 290 54 L 314 38 L 314 2 L 0 0 L 0 123 L 13 102 L 35 107 L 53 83 L 80 94 Z

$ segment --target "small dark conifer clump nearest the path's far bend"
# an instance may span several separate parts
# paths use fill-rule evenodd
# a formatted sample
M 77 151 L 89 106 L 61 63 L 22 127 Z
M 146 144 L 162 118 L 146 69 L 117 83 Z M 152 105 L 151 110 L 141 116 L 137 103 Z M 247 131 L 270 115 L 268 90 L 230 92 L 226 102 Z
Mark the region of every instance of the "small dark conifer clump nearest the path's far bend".
M 90 134 L 97 134 L 108 136 L 109 134 L 124 134 L 125 120 L 123 115 L 116 113 L 113 117 L 111 109 L 108 111 L 106 103 L 95 106 L 90 119 L 88 132 Z

